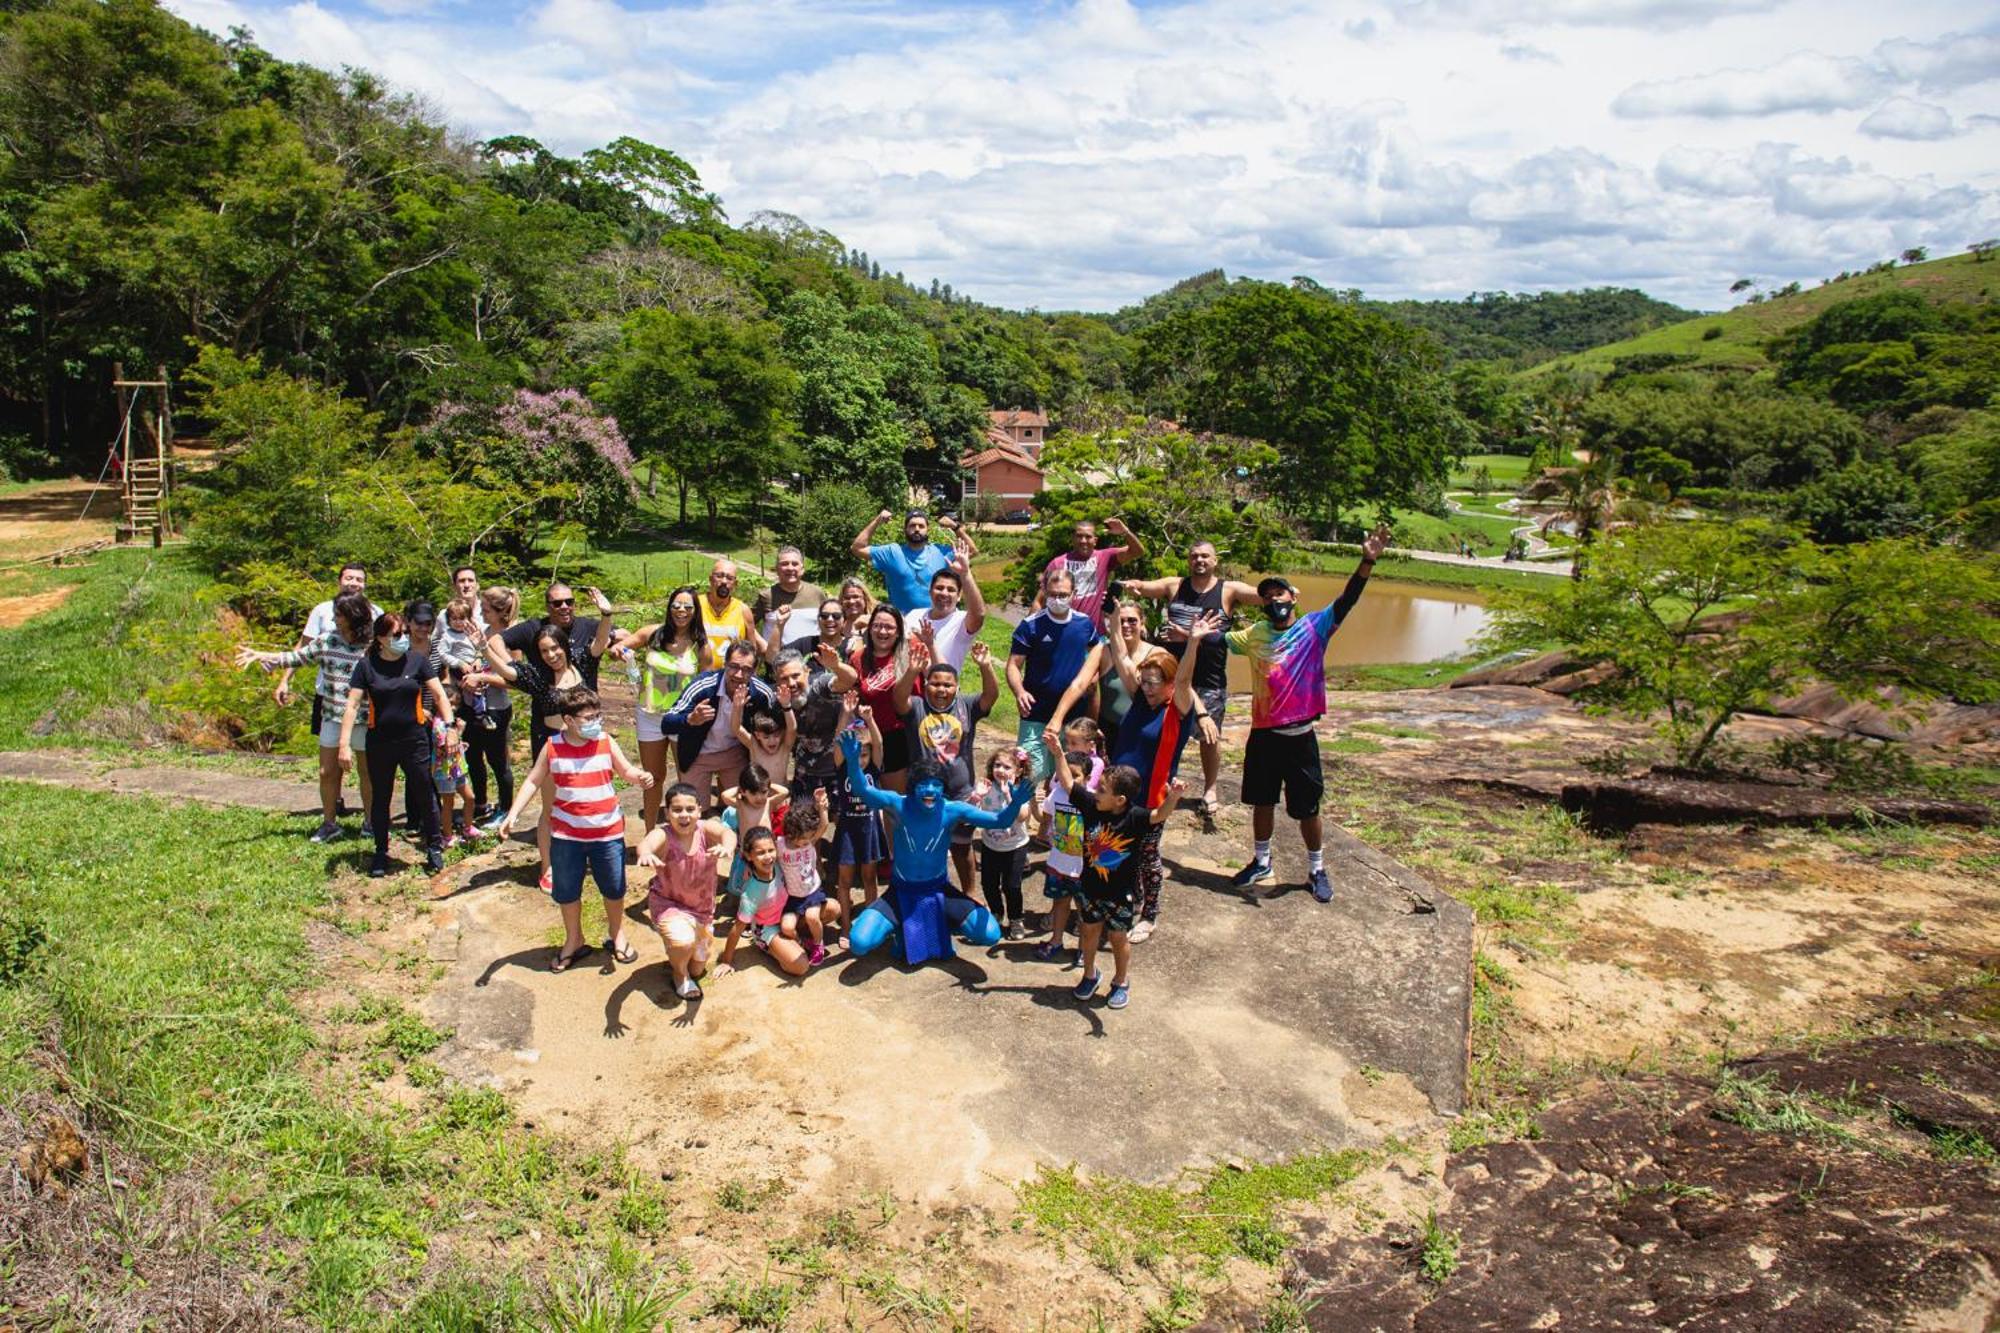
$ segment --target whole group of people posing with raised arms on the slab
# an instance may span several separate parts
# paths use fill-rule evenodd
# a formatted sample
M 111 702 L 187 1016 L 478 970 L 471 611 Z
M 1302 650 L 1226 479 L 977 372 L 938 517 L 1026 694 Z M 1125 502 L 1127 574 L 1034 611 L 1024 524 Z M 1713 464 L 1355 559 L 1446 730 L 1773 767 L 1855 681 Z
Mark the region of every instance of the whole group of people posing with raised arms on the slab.
M 1024 885 L 1040 841 L 1046 939 L 1032 957 L 1068 961 L 1074 933 L 1076 997 L 1090 999 L 1104 989 L 1108 951 L 1106 1005 L 1122 1009 L 1132 945 L 1160 919 L 1160 835 L 1188 791 L 1180 761 L 1190 741 L 1202 765 L 1196 811 L 1214 811 L 1232 652 L 1250 664 L 1242 799 L 1254 831 L 1234 883 L 1272 877 L 1282 803 L 1306 845 L 1306 887 L 1332 899 L 1314 723 L 1326 707 L 1328 640 L 1362 594 L 1386 528 L 1364 542 L 1342 594 L 1300 614 L 1286 578 L 1224 578 L 1206 540 L 1184 552 L 1184 576 L 1118 580 L 1120 564 L 1144 556 L 1140 540 L 1118 518 L 1104 522 L 1118 544 L 1078 522 L 1000 662 L 980 640 L 986 602 L 972 534 L 940 520 L 934 536 L 930 516 L 910 512 L 900 540 L 876 542 L 890 518 L 882 510 L 854 538 L 882 582 L 880 600 L 860 578 L 836 590 L 808 582 L 792 546 L 754 600 L 738 596 L 736 564 L 716 560 L 706 588 L 674 588 L 660 618 L 632 630 L 612 624 L 596 588 L 584 590 L 596 614 L 578 614 L 566 582 L 548 584 L 542 614 L 524 618 L 514 588 L 482 588 L 470 566 L 452 572 L 442 612 L 430 600 L 384 610 L 368 600 L 366 570 L 350 564 L 292 648 L 244 648 L 240 662 L 282 671 L 280 703 L 292 699 L 296 669 L 316 669 L 322 821 L 312 839 L 346 835 L 342 777 L 360 757 L 370 875 L 390 869 L 398 775 L 402 819 L 432 873 L 450 847 L 512 833 L 538 801 L 540 885 L 564 923 L 552 971 L 592 949 L 586 879 L 610 921 L 602 947 L 638 961 L 624 913 L 624 783 L 642 791 L 634 859 L 648 877 L 646 919 L 684 999 L 736 967 L 744 937 L 790 975 L 820 965 L 842 939 L 852 955 L 896 941 L 906 963 L 950 955 L 954 935 L 978 947 L 1026 941 Z M 1148 602 L 1162 604 L 1158 640 L 1148 638 Z M 606 658 L 632 687 L 636 759 L 606 731 Z M 972 671 L 976 689 L 964 681 Z M 980 763 L 978 725 L 1002 681 L 1020 727 Z M 528 709 L 520 783 L 510 763 L 516 695 Z M 726 935 L 718 909 L 728 909 Z

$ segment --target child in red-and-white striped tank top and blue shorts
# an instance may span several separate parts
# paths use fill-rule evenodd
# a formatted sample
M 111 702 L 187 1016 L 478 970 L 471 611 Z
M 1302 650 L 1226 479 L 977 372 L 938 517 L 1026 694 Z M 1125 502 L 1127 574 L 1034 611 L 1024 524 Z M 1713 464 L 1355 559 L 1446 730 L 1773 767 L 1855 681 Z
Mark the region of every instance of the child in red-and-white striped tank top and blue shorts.
M 618 809 L 612 775 L 642 789 L 652 787 L 652 775 L 628 761 L 618 743 L 604 735 L 604 709 L 596 691 L 582 685 L 560 691 L 556 707 L 562 731 L 536 755 L 534 771 L 500 825 L 500 837 L 514 831 L 528 797 L 538 789 L 550 793 L 548 879 L 550 897 L 562 909 L 562 947 L 548 971 L 566 973 L 590 953 L 584 943 L 584 871 L 598 881 L 604 897 L 604 919 L 610 925 L 604 947 L 620 963 L 638 963 L 638 951 L 624 937 L 624 811 Z

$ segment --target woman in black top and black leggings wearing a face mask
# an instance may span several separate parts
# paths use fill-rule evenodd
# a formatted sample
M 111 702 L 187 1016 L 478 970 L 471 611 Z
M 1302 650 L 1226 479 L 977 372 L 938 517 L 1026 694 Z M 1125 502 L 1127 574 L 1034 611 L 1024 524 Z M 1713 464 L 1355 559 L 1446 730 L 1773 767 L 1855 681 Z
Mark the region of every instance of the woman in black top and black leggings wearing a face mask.
M 376 855 L 368 875 L 388 875 L 388 813 L 396 771 L 418 797 L 424 837 L 424 865 L 432 875 L 444 869 L 444 841 L 438 837 L 438 799 L 430 789 L 430 709 L 452 721 L 452 701 L 438 683 L 428 656 L 410 650 L 410 628 L 394 612 L 376 616 L 374 646 L 354 662 L 348 677 L 348 705 L 340 717 L 340 767 L 354 767 L 354 723 L 368 709 L 368 775 Z

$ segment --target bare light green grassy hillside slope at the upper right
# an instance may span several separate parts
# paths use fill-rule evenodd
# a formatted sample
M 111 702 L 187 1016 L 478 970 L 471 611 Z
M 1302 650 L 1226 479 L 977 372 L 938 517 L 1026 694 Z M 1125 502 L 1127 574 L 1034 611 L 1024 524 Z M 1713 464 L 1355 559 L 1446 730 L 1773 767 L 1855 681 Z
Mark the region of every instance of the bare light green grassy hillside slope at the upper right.
M 1854 274 L 1826 286 L 1814 286 L 1796 296 L 1778 296 L 1754 306 L 1744 304 L 1722 314 L 1702 314 L 1692 320 L 1642 332 L 1622 342 L 1606 342 L 1588 352 L 1560 356 L 1522 372 L 1532 380 L 1556 370 L 1606 372 L 1624 356 L 1674 354 L 1694 356 L 1696 366 L 1762 370 L 1764 342 L 1772 334 L 1804 324 L 1832 304 L 1874 296 L 1896 288 L 1920 290 L 1932 300 L 1992 300 L 2000 294 L 2000 260 L 1978 262 L 1970 254 Z M 1708 330 L 1720 330 L 1712 334 Z

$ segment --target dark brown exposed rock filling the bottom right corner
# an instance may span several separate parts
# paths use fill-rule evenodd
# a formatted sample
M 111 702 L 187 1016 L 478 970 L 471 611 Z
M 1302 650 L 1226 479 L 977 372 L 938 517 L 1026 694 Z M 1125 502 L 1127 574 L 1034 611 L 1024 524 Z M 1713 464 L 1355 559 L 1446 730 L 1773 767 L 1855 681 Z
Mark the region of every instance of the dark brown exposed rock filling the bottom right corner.
M 2000 1089 L 2000 1053 L 1976 1043 L 1882 1039 L 1738 1069 L 1774 1089 L 1930 1107 L 1968 1133 L 1990 1125 L 1976 1099 Z M 1450 1161 L 1438 1225 L 1460 1249 L 1440 1285 L 1418 1273 L 1410 1229 L 1308 1245 L 1290 1285 L 1328 1331 L 1992 1327 L 1990 1167 L 1932 1157 L 1912 1135 L 1870 1151 L 1718 1109 L 1700 1081 L 1602 1085 L 1546 1113 L 1538 1141 Z

